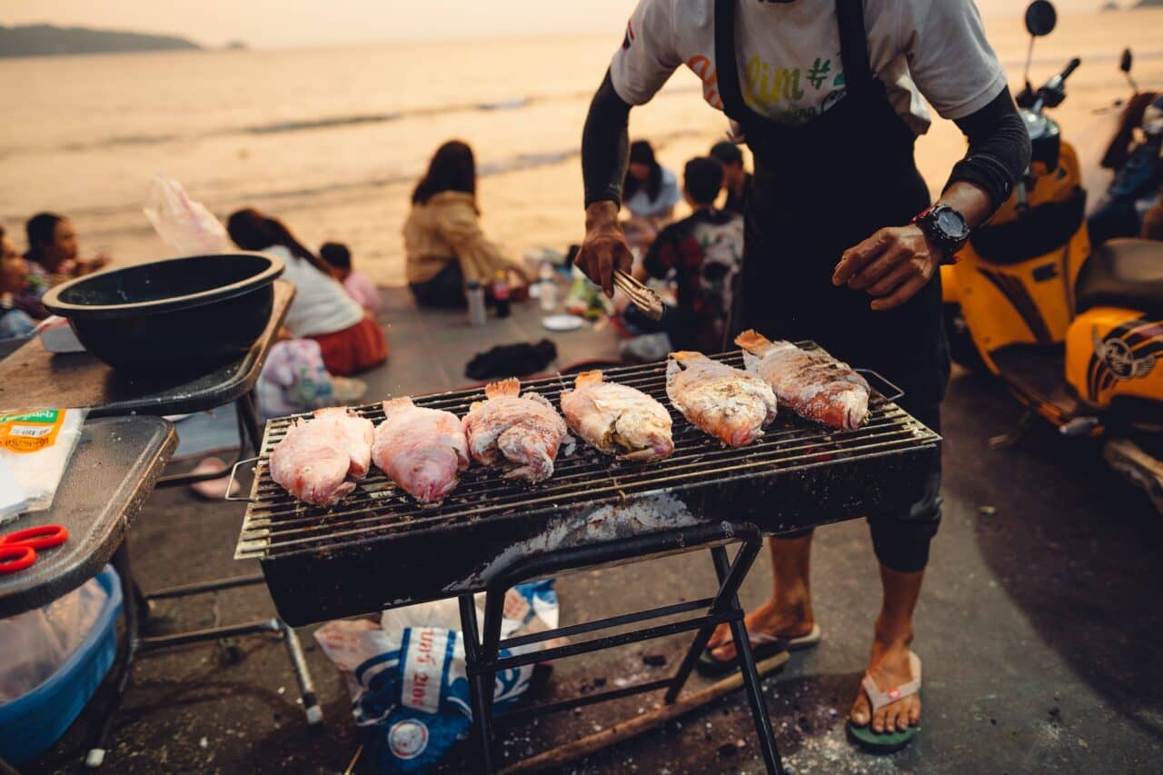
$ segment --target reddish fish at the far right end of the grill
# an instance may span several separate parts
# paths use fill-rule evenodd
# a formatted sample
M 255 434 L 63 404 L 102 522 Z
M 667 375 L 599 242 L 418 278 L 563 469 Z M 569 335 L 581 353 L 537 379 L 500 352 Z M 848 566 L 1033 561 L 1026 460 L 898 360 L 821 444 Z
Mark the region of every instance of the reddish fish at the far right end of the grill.
M 800 417 L 846 431 L 868 419 L 869 384 L 847 363 L 791 342 L 768 341 L 754 330 L 736 336 L 735 343 L 743 348 L 747 370 L 768 381 Z

